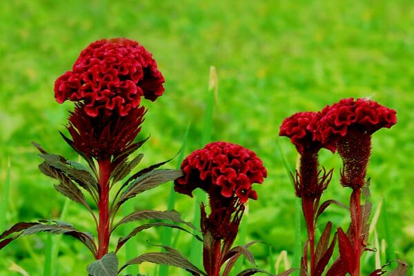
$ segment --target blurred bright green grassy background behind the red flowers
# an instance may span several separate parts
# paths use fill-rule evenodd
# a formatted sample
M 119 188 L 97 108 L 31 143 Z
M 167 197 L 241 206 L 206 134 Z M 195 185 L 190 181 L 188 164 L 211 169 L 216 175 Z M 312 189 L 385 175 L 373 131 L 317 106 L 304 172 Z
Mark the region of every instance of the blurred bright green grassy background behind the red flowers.
M 267 270 L 282 250 L 291 261 L 295 245 L 297 199 L 277 147 L 284 117 L 320 110 L 344 97 L 371 97 L 395 108 L 398 124 L 373 137 L 368 175 L 374 210 L 383 203 L 375 227 L 378 241 L 386 244 L 382 264 L 390 258 L 413 264 L 413 23 L 411 0 L 1 1 L 0 199 L 7 198 L 9 204 L 0 231 L 21 220 L 61 216 L 65 199 L 53 188 L 54 181 L 37 170 L 41 161 L 30 141 L 77 159 L 57 132 L 66 131 L 72 104 L 55 102 L 55 79 L 71 68 L 90 42 L 128 37 L 153 53 L 166 79 L 165 95 L 155 103 L 146 102 L 149 110 L 140 137 L 150 135 L 150 140 L 142 148 L 143 166 L 174 156 L 188 123 L 186 154 L 201 146 L 208 72 L 216 66 L 219 100 L 213 140 L 254 150 L 268 168 L 268 179 L 256 187 L 259 200 L 250 201 L 244 237 L 246 242 L 270 244 L 273 261 L 269 246 L 252 248 L 257 264 Z M 286 138 L 281 143 L 294 166 L 295 149 Z M 9 158 L 10 190 L 4 197 Z M 320 161 L 335 168 L 324 197 L 347 204 L 350 190 L 339 185 L 339 158 L 324 151 Z M 176 165 L 174 160 L 166 167 Z M 169 190 L 167 184 L 137 197 L 135 208 L 165 210 Z M 177 200 L 176 209 L 192 220 L 194 209 L 188 206 L 194 199 L 178 195 Z M 92 230 L 92 220 L 82 207 L 72 201 L 67 207 L 66 221 Z M 347 217 L 345 210 L 333 206 L 320 224 L 332 220 L 335 226 L 346 227 Z M 132 246 L 139 253 L 159 250 L 145 241 L 160 244 L 161 233 L 161 229 L 141 233 Z M 0 275 L 20 275 L 9 270 L 14 264 L 30 275 L 43 275 L 46 239 L 44 234 L 26 237 L 2 250 Z M 112 242 L 115 245 L 116 239 Z M 181 234 L 177 248 L 184 255 L 189 255 L 189 244 L 190 237 Z M 124 254 L 119 256 L 121 263 Z M 369 272 L 375 262 L 372 253 L 367 256 L 363 267 Z M 63 237 L 59 275 L 85 275 L 91 261 L 86 249 Z M 154 275 L 155 266 L 140 269 Z M 185 273 L 170 270 L 170 275 Z

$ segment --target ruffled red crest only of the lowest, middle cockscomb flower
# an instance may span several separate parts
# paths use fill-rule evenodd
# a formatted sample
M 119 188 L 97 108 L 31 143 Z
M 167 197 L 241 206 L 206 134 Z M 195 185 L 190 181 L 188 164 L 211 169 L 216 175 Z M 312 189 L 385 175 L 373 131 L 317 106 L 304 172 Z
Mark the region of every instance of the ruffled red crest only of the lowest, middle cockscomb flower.
M 184 177 L 175 181 L 175 190 L 192 196 L 195 188 L 211 196 L 219 188 L 222 197 L 237 197 L 242 203 L 257 199 L 253 183 L 262 184 L 267 172 L 255 152 L 227 142 L 214 142 L 195 150 L 181 164 Z M 210 193 L 211 192 L 211 193 Z

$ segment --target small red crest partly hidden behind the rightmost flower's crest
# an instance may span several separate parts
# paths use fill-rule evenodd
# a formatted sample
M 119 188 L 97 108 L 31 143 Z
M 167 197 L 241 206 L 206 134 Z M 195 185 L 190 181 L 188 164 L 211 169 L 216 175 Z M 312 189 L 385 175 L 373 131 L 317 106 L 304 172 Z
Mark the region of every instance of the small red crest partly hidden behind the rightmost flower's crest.
M 289 137 L 301 155 L 304 150 L 317 152 L 323 146 L 313 135 L 319 119 L 317 112 L 297 112 L 284 119 L 279 136 Z

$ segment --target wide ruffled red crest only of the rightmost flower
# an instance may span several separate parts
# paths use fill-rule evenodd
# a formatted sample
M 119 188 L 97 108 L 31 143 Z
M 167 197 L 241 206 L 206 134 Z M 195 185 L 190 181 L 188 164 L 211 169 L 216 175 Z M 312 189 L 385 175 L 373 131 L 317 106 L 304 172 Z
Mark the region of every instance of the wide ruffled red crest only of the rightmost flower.
M 342 99 L 322 110 L 316 137 L 333 144 L 335 139 L 346 136 L 350 129 L 372 135 L 380 128 L 397 124 L 396 114 L 395 110 L 370 99 Z

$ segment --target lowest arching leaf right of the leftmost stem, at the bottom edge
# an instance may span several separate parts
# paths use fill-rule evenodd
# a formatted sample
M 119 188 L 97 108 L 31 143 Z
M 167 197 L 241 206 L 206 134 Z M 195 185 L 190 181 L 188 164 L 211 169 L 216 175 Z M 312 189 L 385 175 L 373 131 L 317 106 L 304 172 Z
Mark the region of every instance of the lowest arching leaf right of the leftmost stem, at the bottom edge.
M 127 266 L 133 265 L 133 264 L 142 264 L 144 262 L 150 262 L 152 264 L 163 264 L 167 266 L 175 266 L 178 268 L 184 268 L 190 273 L 193 273 L 193 275 L 206 275 L 203 271 L 199 270 L 197 266 L 194 266 L 193 264 L 188 261 L 185 257 L 183 257 L 181 254 L 176 253 L 146 253 L 139 257 L 136 257 L 135 259 L 131 259 L 128 261 L 124 266 L 121 267 L 119 272 L 124 270 Z M 195 273 L 195 274 L 194 274 Z

